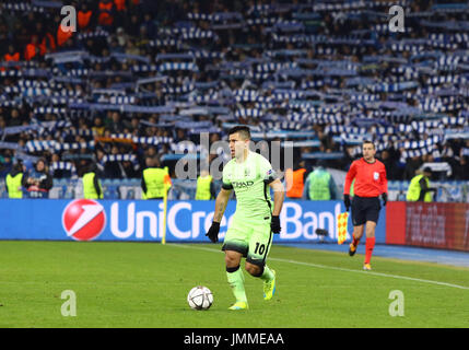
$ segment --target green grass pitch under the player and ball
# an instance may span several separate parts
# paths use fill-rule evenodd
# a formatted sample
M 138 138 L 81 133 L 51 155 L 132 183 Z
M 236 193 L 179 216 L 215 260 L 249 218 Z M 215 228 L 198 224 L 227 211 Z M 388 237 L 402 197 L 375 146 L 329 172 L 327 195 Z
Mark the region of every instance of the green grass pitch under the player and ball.
M 249 311 L 232 312 L 220 244 L 0 242 L 0 327 L 469 327 L 469 269 L 272 246 L 274 298 L 246 276 Z M 347 249 L 347 247 L 344 247 Z M 377 246 L 376 249 L 379 249 Z M 186 296 L 211 289 L 209 311 Z M 65 290 L 77 316 L 65 317 Z M 403 293 L 403 316 L 390 316 Z

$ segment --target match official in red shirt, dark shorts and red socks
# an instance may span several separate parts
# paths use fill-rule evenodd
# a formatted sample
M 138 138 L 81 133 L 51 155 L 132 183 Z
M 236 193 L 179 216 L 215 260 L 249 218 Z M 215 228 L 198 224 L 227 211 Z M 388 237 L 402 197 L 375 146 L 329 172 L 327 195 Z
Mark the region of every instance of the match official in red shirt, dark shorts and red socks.
M 355 254 L 366 226 L 366 253 L 363 269 L 371 270 L 370 261 L 375 247 L 375 229 L 382 208 L 379 196 L 386 206 L 388 183 L 385 165 L 375 159 L 375 144 L 371 141 L 364 141 L 362 151 L 363 158 L 354 161 L 347 173 L 343 202 L 347 211 L 352 207 L 353 242 L 350 244 L 349 255 Z M 350 186 L 353 179 L 355 179 L 354 198 L 351 202 Z

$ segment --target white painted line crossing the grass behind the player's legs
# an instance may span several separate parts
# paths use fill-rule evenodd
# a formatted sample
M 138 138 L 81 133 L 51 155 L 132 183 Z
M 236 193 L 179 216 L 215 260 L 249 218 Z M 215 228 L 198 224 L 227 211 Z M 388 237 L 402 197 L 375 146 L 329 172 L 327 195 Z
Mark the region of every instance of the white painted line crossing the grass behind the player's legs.
M 206 248 L 206 247 L 195 247 L 191 245 L 184 245 L 184 244 L 168 244 L 168 245 L 174 246 L 174 247 L 180 247 L 180 248 L 199 249 L 199 250 L 207 250 L 207 252 L 212 252 L 212 253 L 223 253 L 219 249 L 211 249 L 211 248 Z M 445 287 L 469 290 L 469 287 L 465 287 L 465 285 L 439 282 L 439 281 L 432 281 L 432 280 L 424 280 L 424 279 L 413 278 L 413 277 L 408 277 L 408 276 L 388 275 L 388 273 L 374 272 L 374 271 L 352 270 L 352 269 L 345 269 L 342 267 L 335 267 L 335 266 L 327 266 L 327 265 L 319 265 L 319 264 L 304 262 L 304 261 L 296 261 L 296 260 L 290 260 L 290 259 L 273 258 L 273 257 L 269 257 L 269 260 L 280 261 L 280 262 L 290 262 L 290 264 L 296 264 L 296 265 L 303 265 L 303 266 L 310 266 L 310 267 L 316 267 L 316 268 L 320 268 L 320 269 L 329 269 L 329 270 L 355 272 L 355 273 L 362 273 L 362 275 L 389 277 L 389 278 L 409 280 L 409 281 L 414 281 L 414 282 L 423 282 L 423 283 L 431 283 L 431 284 L 437 284 L 437 285 L 445 285 Z

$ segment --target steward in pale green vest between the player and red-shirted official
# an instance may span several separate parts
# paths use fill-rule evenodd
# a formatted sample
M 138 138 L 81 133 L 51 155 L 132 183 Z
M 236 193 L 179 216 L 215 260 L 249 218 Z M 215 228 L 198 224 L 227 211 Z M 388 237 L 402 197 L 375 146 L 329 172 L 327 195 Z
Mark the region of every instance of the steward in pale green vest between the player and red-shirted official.
M 336 183 L 323 165 L 316 167 L 316 170 L 307 176 L 304 197 L 309 200 L 337 199 Z

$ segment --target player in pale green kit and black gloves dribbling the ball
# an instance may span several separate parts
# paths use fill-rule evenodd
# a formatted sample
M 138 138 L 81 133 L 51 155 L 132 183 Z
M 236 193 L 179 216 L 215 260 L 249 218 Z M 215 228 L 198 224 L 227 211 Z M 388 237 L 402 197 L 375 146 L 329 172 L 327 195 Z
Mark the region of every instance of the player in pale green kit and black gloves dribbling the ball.
M 213 243 L 219 241 L 220 222 L 234 189 L 236 212 L 222 250 L 225 252 L 228 284 L 236 298 L 230 310 L 246 310 L 244 275 L 239 268 L 242 257 L 246 258 L 246 271 L 263 281 L 263 299 L 272 299 L 275 292 L 275 271 L 266 265 L 266 258 L 272 245 L 272 233 L 281 230 L 279 215 L 284 189 L 269 161 L 249 151 L 248 127 L 232 128 L 228 138 L 232 160 L 223 168 L 223 186 L 216 197 L 215 213 L 207 236 Z M 273 206 L 269 186 L 273 189 Z

